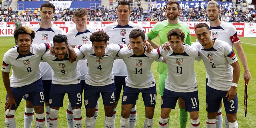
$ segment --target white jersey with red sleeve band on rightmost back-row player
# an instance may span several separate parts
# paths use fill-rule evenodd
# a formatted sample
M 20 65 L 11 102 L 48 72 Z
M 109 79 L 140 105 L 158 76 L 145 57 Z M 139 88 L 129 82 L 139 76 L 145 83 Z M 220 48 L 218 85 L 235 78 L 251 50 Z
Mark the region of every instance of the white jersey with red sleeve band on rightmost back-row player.
M 220 26 L 211 27 L 211 38 L 219 39 L 225 42 L 228 42 L 230 46 L 233 48 L 233 43 L 237 43 L 240 41 L 236 28 L 231 24 L 222 21 Z

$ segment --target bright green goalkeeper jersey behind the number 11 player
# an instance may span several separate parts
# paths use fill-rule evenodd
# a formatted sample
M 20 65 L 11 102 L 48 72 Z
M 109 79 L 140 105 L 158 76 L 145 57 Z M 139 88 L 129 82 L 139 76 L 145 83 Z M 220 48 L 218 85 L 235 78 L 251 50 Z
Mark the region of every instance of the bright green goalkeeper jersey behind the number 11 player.
M 168 20 L 156 23 L 153 28 L 148 32 L 147 36 L 150 40 L 159 35 L 160 45 L 168 42 L 167 33 L 173 28 L 179 28 L 185 33 L 185 44 L 191 45 L 190 29 L 185 22 L 178 21 L 177 24 L 169 24 Z M 167 64 L 163 62 L 158 63 L 157 72 L 160 74 L 167 74 Z

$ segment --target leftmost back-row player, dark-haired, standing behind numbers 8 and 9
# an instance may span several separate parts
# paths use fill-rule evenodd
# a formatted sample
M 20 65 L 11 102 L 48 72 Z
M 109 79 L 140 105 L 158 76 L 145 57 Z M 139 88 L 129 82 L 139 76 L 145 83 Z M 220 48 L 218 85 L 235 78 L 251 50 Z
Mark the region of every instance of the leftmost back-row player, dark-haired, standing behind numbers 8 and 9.
M 52 41 L 53 37 L 56 34 L 65 34 L 62 28 L 51 24 L 51 20 L 54 16 L 55 6 L 50 2 L 45 2 L 41 5 L 41 22 L 32 26 L 31 28 L 36 32 L 36 36 L 34 38 L 34 43 L 45 43 Z M 74 51 L 70 51 L 70 59 L 72 59 L 76 54 Z M 47 62 L 40 62 L 39 65 L 40 74 L 42 75 L 42 82 L 44 85 L 44 93 L 45 93 L 45 108 L 46 108 L 46 122 L 49 122 L 49 91 L 52 83 L 52 68 Z M 26 100 L 26 97 L 24 97 Z M 34 108 L 31 102 L 26 100 L 26 108 L 24 113 L 24 126 L 30 128 L 33 121 Z M 49 128 L 48 123 L 46 123 L 46 127 Z

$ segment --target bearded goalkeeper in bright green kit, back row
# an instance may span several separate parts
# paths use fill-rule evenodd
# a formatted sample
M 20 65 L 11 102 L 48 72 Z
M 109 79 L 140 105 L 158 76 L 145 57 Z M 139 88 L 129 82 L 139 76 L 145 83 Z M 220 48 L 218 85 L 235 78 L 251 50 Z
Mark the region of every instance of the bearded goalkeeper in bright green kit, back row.
M 180 4 L 176 0 L 170 0 L 166 3 L 166 16 L 168 20 L 156 23 L 153 28 L 148 32 L 148 42 L 153 48 L 158 48 L 158 45 L 152 42 L 152 39 L 156 38 L 158 35 L 160 37 L 160 45 L 168 42 L 167 33 L 173 28 L 179 28 L 185 34 L 184 43 L 191 45 L 190 29 L 188 24 L 178 20 L 178 15 L 180 14 Z M 167 78 L 167 64 L 163 62 L 158 63 L 157 72 L 159 73 L 159 94 L 163 96 L 164 82 Z M 178 100 L 180 107 L 180 128 L 186 128 L 188 121 L 188 112 L 185 111 L 185 102 L 181 98 Z

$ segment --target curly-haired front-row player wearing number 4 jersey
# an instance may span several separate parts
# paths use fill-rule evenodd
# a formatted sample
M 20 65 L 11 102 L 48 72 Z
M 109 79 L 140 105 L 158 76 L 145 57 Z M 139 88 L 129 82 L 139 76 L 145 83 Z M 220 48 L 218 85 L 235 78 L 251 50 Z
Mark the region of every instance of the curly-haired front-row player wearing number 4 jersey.
M 85 76 L 84 104 L 86 108 L 86 128 L 95 128 L 94 112 L 98 94 L 102 95 L 105 110 L 105 128 L 114 128 L 113 110 L 116 100 L 116 87 L 112 67 L 118 51 L 126 45 L 110 44 L 105 32 L 94 32 L 90 36 L 92 44 L 78 46 L 88 61 Z

